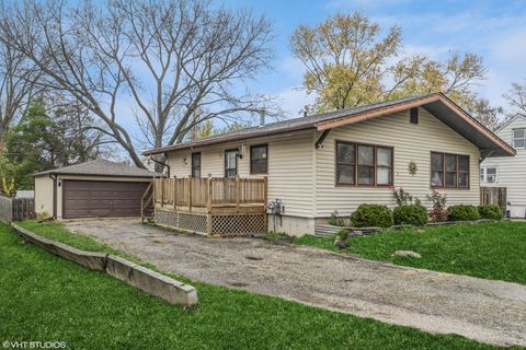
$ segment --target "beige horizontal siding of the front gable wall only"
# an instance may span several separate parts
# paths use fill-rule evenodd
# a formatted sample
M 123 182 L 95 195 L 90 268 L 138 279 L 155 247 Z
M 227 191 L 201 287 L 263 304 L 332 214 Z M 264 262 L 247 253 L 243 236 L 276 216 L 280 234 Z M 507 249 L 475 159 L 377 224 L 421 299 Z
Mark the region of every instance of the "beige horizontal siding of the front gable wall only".
M 470 189 L 438 189 L 447 194 L 447 205 L 479 203 L 479 158 L 476 145 L 462 138 L 425 109 L 419 110 L 419 124 L 409 122 L 409 110 L 333 129 L 316 151 L 316 217 L 329 217 L 333 210 L 347 215 L 361 203 L 396 205 L 389 187 L 335 186 L 335 141 L 388 145 L 395 149 L 395 187 L 416 196 L 431 207 L 431 152 L 466 154 L 470 156 Z M 409 174 L 414 161 L 418 172 Z

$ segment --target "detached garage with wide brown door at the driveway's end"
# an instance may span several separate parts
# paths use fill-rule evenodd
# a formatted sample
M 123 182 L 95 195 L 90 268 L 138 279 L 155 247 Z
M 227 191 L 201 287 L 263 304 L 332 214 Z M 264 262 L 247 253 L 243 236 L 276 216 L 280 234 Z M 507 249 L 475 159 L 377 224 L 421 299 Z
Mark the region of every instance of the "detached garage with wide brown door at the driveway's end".
M 37 173 L 35 210 L 56 219 L 140 217 L 142 195 L 160 176 L 106 160 Z

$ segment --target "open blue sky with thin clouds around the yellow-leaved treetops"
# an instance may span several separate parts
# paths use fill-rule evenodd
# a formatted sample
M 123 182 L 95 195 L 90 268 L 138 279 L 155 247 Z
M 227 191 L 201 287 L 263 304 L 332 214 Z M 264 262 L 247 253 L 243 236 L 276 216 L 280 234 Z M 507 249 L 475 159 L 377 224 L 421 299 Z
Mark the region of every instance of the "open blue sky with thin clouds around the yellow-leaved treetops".
M 249 88 L 276 95 L 290 117 L 297 117 L 312 96 L 298 90 L 304 68 L 289 49 L 288 38 L 299 24 L 315 26 L 338 12 L 361 11 L 384 28 L 402 28 L 401 55 L 423 52 L 444 60 L 450 50 L 482 57 L 487 80 L 477 86 L 493 105 L 506 106 L 503 94 L 512 82 L 526 79 L 526 1 L 367 1 L 367 0 L 225 0 L 232 9 L 251 9 L 274 25 L 276 58 Z

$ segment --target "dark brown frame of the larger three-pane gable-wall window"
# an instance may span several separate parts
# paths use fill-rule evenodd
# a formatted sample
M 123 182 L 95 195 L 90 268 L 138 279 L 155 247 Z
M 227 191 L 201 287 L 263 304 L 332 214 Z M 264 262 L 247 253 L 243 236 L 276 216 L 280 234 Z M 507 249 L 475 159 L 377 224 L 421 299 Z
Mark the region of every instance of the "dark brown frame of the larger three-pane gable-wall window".
M 340 184 L 338 182 L 338 166 L 340 165 L 338 162 L 338 144 L 350 144 L 354 145 L 354 184 Z M 374 154 L 374 179 L 373 184 L 358 184 L 358 147 L 373 147 L 373 154 Z M 389 184 L 378 184 L 378 149 L 389 149 L 391 150 L 391 174 L 389 178 Z M 342 165 L 350 165 L 343 164 Z M 384 145 L 384 144 L 371 144 L 371 143 L 362 143 L 362 142 L 353 142 L 353 141 L 344 141 L 344 140 L 335 140 L 334 142 L 334 186 L 335 187 L 395 187 L 395 147 L 392 145 Z

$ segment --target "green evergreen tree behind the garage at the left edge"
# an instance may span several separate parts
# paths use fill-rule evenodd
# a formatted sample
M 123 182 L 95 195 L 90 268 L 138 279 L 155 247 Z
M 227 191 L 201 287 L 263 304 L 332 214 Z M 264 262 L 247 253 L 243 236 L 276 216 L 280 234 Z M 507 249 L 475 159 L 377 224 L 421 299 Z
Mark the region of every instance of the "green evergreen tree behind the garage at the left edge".
M 42 101 L 35 101 L 5 133 L 0 177 L 14 179 L 16 188 L 32 188 L 31 174 L 35 172 L 85 162 L 111 151 L 105 135 L 90 122 L 82 110 L 48 110 Z

